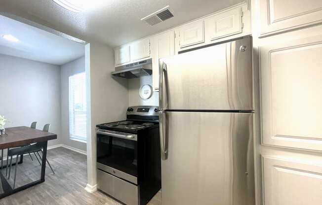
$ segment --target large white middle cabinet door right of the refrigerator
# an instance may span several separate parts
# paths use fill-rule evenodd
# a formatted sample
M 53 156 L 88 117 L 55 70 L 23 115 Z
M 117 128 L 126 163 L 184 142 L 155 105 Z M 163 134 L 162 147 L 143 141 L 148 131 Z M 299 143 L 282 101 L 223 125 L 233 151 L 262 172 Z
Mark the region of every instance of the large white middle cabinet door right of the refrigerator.
M 322 151 L 322 35 L 260 47 L 262 142 Z

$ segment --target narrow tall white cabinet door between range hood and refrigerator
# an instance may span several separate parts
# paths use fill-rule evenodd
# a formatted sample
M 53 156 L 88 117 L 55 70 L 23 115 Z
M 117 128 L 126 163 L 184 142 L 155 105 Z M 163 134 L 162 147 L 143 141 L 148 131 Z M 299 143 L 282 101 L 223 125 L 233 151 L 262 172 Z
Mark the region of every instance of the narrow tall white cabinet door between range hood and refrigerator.
M 153 89 L 159 90 L 159 59 L 174 55 L 174 31 L 154 37 Z

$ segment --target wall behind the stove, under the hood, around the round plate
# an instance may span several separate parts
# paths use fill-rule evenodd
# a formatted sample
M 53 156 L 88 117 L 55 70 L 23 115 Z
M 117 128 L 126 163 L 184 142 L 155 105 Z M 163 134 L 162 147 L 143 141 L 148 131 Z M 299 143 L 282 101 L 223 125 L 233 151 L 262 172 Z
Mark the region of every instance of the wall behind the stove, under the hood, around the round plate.
M 139 90 L 142 85 L 152 86 L 152 75 L 128 79 L 128 105 L 159 105 L 159 92 L 154 92 L 150 99 L 140 98 Z

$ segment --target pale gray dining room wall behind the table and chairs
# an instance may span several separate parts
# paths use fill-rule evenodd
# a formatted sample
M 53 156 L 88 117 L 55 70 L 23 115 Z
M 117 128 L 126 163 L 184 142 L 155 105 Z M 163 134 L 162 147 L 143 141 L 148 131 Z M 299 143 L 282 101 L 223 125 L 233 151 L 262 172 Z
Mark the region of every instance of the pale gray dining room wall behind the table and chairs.
M 12 123 L 6 127 L 37 128 L 50 123 L 50 132 L 57 134 L 48 146 L 60 139 L 60 67 L 51 64 L 0 55 L 0 115 Z

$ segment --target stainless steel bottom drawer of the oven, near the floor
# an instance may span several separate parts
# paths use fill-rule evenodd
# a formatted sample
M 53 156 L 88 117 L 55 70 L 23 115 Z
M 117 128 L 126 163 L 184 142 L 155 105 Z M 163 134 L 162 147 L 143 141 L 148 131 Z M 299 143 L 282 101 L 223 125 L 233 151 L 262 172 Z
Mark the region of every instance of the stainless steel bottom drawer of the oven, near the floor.
M 138 205 L 138 187 L 105 171 L 97 170 L 98 189 L 126 205 Z

